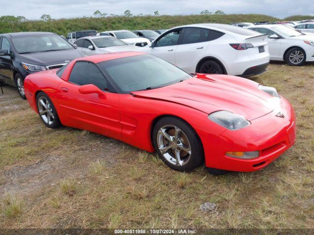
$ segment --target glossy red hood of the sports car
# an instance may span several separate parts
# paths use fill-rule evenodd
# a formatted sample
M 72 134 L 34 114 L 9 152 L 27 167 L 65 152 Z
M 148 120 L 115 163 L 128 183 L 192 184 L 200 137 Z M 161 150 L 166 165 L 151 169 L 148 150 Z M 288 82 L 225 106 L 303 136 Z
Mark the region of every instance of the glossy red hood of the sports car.
M 210 114 L 226 110 L 252 120 L 275 108 L 275 98 L 258 89 L 258 83 L 228 75 L 198 75 L 183 82 L 132 92 L 142 98 L 179 103 Z

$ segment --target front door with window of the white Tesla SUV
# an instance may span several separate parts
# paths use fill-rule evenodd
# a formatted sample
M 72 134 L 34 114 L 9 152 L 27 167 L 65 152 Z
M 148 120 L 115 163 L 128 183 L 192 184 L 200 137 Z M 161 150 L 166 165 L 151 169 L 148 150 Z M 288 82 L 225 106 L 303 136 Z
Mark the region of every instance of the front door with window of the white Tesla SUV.
M 183 28 L 176 28 L 157 38 L 150 53 L 175 64 L 175 52 L 181 40 Z

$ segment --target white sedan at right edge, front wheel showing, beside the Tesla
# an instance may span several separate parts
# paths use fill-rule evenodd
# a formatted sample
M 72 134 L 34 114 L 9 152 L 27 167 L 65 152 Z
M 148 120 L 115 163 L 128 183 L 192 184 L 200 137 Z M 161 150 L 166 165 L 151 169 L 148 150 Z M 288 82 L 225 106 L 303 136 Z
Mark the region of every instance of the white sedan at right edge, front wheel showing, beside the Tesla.
M 286 61 L 294 66 L 314 61 L 314 37 L 311 35 L 278 24 L 255 25 L 249 29 L 268 35 L 270 60 Z

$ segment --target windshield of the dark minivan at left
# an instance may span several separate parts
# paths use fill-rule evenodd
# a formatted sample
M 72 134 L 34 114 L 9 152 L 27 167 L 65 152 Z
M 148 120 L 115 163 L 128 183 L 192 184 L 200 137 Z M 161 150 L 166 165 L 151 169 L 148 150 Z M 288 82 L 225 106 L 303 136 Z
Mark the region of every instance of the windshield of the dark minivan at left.
M 19 54 L 74 49 L 70 43 L 54 34 L 18 36 L 12 41 Z

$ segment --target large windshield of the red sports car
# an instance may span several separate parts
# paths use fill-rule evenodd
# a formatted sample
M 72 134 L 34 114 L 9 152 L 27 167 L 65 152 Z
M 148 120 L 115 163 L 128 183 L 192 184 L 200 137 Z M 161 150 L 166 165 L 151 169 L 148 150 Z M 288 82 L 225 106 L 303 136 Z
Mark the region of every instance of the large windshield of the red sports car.
M 153 55 L 138 55 L 99 63 L 123 93 L 168 86 L 191 77 Z

